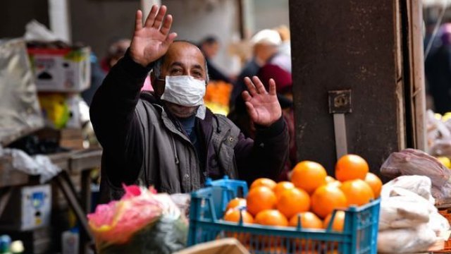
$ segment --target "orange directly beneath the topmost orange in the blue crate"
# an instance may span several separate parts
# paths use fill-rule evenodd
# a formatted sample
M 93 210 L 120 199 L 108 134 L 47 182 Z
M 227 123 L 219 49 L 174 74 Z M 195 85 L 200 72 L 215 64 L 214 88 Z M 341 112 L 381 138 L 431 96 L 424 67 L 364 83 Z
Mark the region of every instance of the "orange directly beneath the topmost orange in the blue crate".
M 340 186 L 340 190 L 345 193 L 347 205 L 364 205 L 374 199 L 373 190 L 369 184 L 360 179 L 345 181 Z

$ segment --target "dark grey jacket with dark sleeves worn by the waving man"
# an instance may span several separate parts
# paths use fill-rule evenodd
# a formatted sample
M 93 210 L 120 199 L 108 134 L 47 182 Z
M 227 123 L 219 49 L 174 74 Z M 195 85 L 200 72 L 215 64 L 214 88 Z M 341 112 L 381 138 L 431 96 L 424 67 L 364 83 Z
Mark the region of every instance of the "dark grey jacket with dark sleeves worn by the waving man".
M 161 101 L 140 92 L 149 68 L 125 55 L 94 96 L 91 120 L 104 148 L 101 202 L 120 198 L 121 183 L 186 193 L 201 188 L 207 176 L 248 182 L 277 178 L 288 158 L 288 129 L 282 118 L 257 128 L 257 138 L 251 140 L 226 116 L 206 109 L 204 119 L 196 120 L 202 147 L 198 155 Z

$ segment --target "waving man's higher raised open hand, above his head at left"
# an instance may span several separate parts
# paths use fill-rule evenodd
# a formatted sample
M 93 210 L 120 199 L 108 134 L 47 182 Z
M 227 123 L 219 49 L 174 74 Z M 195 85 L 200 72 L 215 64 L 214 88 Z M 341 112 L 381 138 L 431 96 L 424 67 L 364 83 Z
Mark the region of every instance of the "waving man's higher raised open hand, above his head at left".
M 142 11 L 136 12 L 135 32 L 130 44 L 130 56 L 133 61 L 146 67 L 166 54 L 169 45 L 177 34 L 169 33 L 172 16 L 165 18 L 166 6 L 158 8 L 152 6 L 144 26 L 142 25 Z M 162 24 L 162 25 L 161 25 Z

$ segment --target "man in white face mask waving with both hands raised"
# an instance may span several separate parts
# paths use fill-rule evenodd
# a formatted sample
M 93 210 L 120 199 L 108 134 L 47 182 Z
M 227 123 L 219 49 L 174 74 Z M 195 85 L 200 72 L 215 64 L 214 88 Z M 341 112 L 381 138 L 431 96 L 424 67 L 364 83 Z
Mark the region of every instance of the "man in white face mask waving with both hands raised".
M 225 116 L 203 105 L 206 63 L 190 42 L 174 42 L 166 6 L 152 6 L 142 25 L 137 11 L 130 49 L 101 85 L 91 107 L 92 123 L 104 148 L 101 200 L 123 195 L 121 183 L 185 193 L 202 188 L 206 177 L 228 175 L 248 182 L 276 179 L 288 157 L 288 131 L 276 97 L 257 77 L 243 92 L 258 130 L 244 138 Z M 153 68 L 154 94 L 140 88 Z

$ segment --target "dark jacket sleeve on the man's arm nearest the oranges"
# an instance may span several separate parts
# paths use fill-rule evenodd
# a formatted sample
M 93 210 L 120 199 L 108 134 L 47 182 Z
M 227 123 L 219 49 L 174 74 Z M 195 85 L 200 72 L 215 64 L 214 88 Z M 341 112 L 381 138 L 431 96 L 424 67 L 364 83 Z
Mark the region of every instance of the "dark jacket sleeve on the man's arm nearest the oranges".
M 283 117 L 268 128 L 257 126 L 255 140 L 240 133 L 235 145 L 238 177 L 247 183 L 266 177 L 278 179 L 289 155 L 289 135 Z

